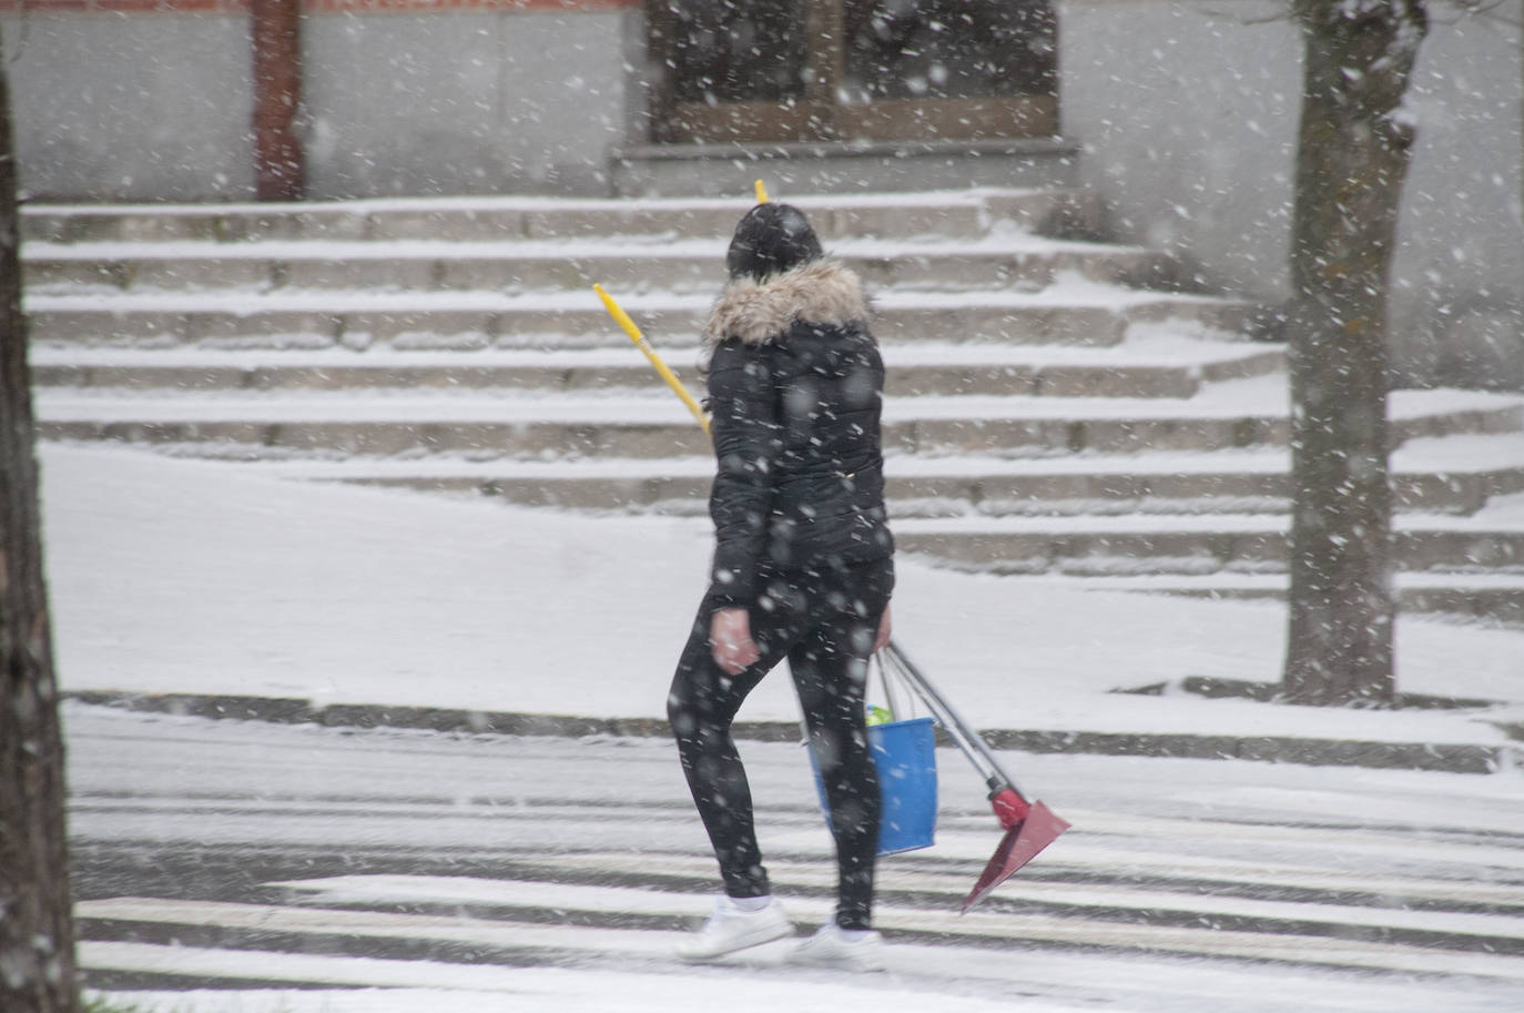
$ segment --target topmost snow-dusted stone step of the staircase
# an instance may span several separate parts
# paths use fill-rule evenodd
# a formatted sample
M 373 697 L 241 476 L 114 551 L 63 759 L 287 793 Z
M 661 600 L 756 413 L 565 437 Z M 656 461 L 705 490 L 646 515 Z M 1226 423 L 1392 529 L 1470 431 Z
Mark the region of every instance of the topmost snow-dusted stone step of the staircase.
M 997 221 L 1041 235 L 1097 230 L 1100 201 L 1061 186 L 920 194 L 779 192 L 802 207 L 823 240 L 847 236 L 972 238 Z M 24 241 L 248 243 L 501 241 L 587 236 L 728 238 L 751 206 L 750 180 L 722 198 L 565 200 L 460 197 L 297 204 L 32 204 L 21 209 Z

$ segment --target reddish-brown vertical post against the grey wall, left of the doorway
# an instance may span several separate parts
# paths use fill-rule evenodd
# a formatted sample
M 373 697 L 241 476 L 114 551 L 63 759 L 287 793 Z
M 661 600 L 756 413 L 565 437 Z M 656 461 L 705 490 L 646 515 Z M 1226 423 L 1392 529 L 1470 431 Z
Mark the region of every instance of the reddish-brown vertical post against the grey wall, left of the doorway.
M 302 104 L 302 2 L 253 0 L 255 192 L 302 200 L 306 160 L 296 133 Z

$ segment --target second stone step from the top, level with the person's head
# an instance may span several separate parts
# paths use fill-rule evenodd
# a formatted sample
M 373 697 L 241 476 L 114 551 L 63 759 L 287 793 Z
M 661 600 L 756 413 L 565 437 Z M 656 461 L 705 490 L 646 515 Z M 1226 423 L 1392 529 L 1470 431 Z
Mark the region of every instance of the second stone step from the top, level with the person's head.
M 34 293 L 73 288 L 195 291 L 241 288 L 514 291 L 602 282 L 614 293 L 703 291 L 725 281 L 718 240 L 613 243 L 81 243 L 29 244 L 26 285 Z M 1012 236 L 983 243 L 844 241 L 832 255 L 876 288 L 1041 290 L 1064 275 L 1134 288 L 1180 288 L 1169 255 Z

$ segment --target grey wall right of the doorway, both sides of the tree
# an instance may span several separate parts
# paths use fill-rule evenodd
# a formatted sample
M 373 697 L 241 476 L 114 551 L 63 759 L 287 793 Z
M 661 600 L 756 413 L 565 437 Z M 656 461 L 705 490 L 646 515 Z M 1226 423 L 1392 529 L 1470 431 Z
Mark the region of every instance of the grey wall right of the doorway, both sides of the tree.
M 1277 0 L 1061 0 L 1062 131 L 1117 230 L 1268 304 L 1286 256 L 1301 41 Z M 1417 142 L 1393 269 L 1408 383 L 1524 389 L 1519 0 L 1431 3 L 1408 93 Z

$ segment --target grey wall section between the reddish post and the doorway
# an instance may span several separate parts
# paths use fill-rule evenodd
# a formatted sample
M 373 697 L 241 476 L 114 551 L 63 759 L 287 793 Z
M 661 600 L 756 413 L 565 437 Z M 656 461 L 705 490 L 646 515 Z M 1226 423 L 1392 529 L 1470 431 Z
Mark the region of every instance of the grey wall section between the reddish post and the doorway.
M 309 18 L 312 192 L 607 194 L 607 153 L 626 130 L 625 20 L 617 8 Z

